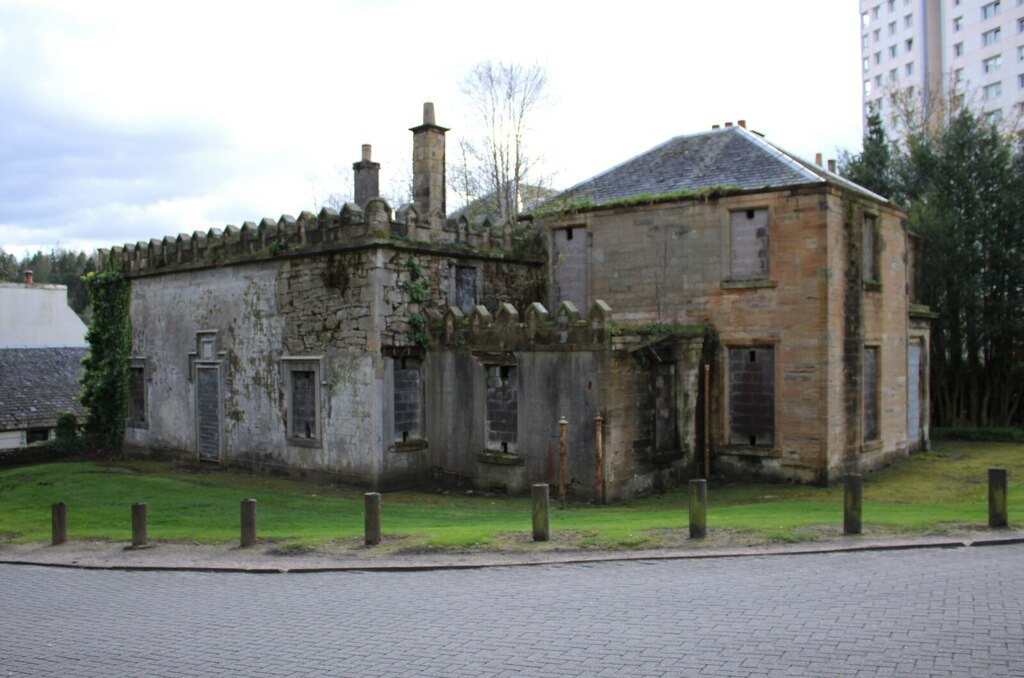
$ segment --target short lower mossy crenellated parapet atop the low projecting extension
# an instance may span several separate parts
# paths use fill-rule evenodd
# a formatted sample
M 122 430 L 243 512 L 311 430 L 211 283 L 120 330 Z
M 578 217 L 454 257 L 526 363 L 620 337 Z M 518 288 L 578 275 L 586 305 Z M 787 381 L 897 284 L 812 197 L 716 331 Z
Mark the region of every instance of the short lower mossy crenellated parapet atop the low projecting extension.
M 596 350 L 611 346 L 611 309 L 595 301 L 586 316 L 570 301 L 554 313 L 534 302 L 520 313 L 502 303 L 492 313 L 474 306 L 466 316 L 456 306 L 431 317 L 431 346 L 440 349 L 486 350 Z

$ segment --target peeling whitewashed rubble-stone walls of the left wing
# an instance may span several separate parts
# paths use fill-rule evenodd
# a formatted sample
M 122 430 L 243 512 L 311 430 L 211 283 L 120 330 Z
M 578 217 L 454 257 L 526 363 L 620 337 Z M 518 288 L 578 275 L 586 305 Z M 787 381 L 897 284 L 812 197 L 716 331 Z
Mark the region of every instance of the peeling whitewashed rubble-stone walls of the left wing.
M 479 289 L 492 299 L 529 299 L 543 276 L 537 259 L 381 239 L 209 262 L 129 268 L 133 352 L 146 364 L 150 416 L 147 428 L 129 430 L 128 444 L 197 454 L 193 371 L 202 334 L 216 342 L 204 366 L 218 372 L 203 381 L 216 389 L 204 391 L 209 401 L 221 404 L 213 416 L 221 461 L 370 486 L 429 473 L 415 450 L 385 454 L 395 442 L 390 355 L 422 352 L 431 314 L 450 303 L 454 267 L 478 269 L 481 280 L 484 267 L 495 271 Z M 318 370 L 314 439 L 288 433 L 289 358 Z M 216 437 L 210 416 L 204 426 L 205 439 Z

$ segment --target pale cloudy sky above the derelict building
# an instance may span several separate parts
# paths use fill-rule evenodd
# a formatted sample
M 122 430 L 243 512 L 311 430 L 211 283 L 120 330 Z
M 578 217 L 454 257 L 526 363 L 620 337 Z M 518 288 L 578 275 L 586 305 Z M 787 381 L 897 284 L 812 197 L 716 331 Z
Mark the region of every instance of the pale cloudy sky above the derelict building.
M 859 40 L 855 0 L 0 0 L 0 248 L 297 216 L 351 193 L 364 143 L 396 195 L 423 102 L 450 162 L 473 136 L 460 83 L 488 59 L 545 69 L 527 142 L 558 188 L 738 119 L 835 158 Z

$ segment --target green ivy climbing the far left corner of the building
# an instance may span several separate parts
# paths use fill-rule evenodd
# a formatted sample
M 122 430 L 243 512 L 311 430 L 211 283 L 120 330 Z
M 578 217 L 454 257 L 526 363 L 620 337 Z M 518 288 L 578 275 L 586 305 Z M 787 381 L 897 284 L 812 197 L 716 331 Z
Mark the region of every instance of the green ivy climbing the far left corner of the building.
M 119 268 L 114 265 L 85 277 L 92 321 L 85 337 L 89 353 L 83 362 L 84 431 L 92 443 L 111 456 L 121 452 L 131 378 L 130 286 Z

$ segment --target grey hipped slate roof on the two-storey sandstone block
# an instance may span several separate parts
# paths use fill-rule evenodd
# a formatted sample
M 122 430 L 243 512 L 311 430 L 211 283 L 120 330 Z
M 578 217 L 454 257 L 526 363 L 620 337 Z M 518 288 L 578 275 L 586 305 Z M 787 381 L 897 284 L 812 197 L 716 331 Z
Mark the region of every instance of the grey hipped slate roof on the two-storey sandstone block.
M 835 183 L 888 202 L 838 174 L 801 160 L 745 128 L 723 127 L 669 139 L 646 153 L 563 190 L 546 205 L 590 201 L 595 205 L 648 194 L 712 186 L 760 190 Z

